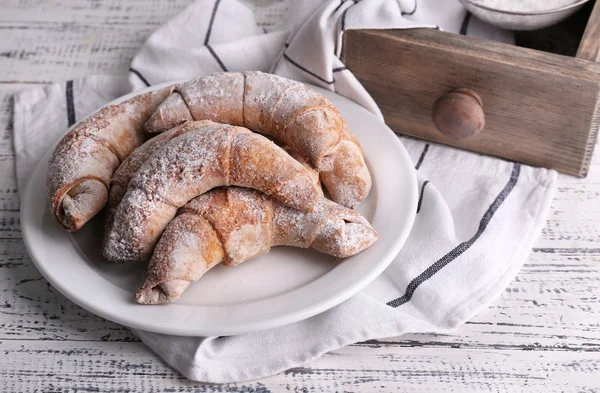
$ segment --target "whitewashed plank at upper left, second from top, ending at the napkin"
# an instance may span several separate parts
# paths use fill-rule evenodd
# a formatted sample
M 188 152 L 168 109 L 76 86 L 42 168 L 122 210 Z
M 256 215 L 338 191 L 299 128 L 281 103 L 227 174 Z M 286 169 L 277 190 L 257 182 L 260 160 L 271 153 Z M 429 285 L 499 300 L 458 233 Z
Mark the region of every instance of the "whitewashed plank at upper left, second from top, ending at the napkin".
M 154 25 L 0 24 L 0 80 L 50 82 L 126 73 Z

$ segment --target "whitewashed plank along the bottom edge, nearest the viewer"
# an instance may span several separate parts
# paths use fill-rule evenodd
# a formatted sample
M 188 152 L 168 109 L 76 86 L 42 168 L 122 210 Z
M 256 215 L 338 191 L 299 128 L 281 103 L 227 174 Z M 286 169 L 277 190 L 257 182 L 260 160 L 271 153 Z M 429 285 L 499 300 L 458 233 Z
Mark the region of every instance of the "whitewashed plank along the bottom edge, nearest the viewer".
M 2 342 L 5 392 L 593 392 L 598 352 L 346 347 L 244 384 L 185 380 L 141 343 Z

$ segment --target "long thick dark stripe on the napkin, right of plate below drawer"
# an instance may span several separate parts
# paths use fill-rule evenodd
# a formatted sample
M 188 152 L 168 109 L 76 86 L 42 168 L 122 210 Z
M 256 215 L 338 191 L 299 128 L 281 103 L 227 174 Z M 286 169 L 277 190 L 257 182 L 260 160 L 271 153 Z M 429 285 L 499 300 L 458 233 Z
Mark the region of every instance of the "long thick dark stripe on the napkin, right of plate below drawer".
M 442 270 L 447 264 L 458 258 L 462 253 L 467 251 L 479 237 L 483 234 L 488 224 L 494 217 L 494 214 L 498 210 L 498 208 L 502 205 L 502 203 L 506 200 L 510 192 L 515 188 L 517 181 L 519 180 L 519 174 L 521 173 L 521 165 L 518 163 L 513 164 L 512 173 L 510 175 L 510 179 L 508 183 L 504 186 L 500 194 L 496 197 L 494 202 L 487 209 L 481 221 L 479 222 L 479 228 L 475 235 L 472 238 L 467 240 L 466 242 L 460 243 L 456 246 L 452 251 L 448 254 L 444 255 L 441 259 L 436 261 L 433 265 L 429 266 L 423 273 L 419 274 L 416 278 L 414 278 L 406 287 L 406 292 L 401 297 L 391 300 L 387 303 L 390 307 L 399 307 L 404 303 L 407 303 L 412 298 L 415 290 L 419 287 L 419 285 L 423 284 L 425 281 L 433 277 L 437 272 Z

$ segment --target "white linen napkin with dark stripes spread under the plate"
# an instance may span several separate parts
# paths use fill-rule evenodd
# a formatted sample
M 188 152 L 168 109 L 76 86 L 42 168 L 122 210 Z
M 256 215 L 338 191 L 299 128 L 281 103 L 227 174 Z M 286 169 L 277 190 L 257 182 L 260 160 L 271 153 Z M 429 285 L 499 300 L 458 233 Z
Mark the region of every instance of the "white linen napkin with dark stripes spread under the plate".
M 380 116 L 339 59 L 344 30 L 436 25 L 510 41 L 454 1 L 331 0 L 290 5 L 287 31 L 257 27 L 234 0 L 198 0 L 156 31 L 132 62 L 135 89 L 214 71 L 271 71 L 347 96 Z M 15 96 L 19 189 L 67 126 L 131 89 L 92 76 Z M 232 337 L 136 331 L 186 377 L 236 382 L 300 366 L 341 346 L 408 332 L 448 333 L 500 295 L 545 223 L 554 171 L 401 137 L 419 178 L 412 233 L 392 265 L 350 300 L 307 320 Z

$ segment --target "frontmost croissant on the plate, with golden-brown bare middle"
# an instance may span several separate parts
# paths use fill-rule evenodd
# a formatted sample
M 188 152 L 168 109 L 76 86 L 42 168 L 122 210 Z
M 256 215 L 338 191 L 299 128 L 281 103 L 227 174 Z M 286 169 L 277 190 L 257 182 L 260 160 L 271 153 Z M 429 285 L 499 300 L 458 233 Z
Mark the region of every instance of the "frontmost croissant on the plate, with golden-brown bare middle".
M 167 226 L 136 300 L 171 303 L 217 264 L 235 266 L 273 246 L 312 247 L 346 258 L 377 237 L 364 217 L 325 198 L 304 213 L 254 190 L 216 189 L 188 202 Z

